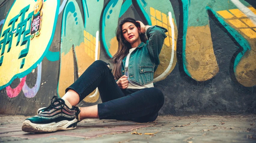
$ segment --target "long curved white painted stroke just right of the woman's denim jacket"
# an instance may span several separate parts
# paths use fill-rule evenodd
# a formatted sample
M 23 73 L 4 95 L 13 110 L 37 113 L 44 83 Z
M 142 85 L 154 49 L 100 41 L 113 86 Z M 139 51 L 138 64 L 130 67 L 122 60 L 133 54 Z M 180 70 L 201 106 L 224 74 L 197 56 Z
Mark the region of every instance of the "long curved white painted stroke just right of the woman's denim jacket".
M 154 82 L 158 82 L 158 81 L 164 79 L 164 77 L 169 74 L 168 72 L 172 68 L 172 63 L 173 63 L 173 59 L 174 59 L 174 46 L 175 46 L 175 43 L 174 43 L 174 24 L 172 22 L 172 13 L 170 11 L 169 11 L 168 15 L 169 15 L 169 22 L 171 24 L 171 29 L 172 29 L 172 56 L 171 56 L 170 63 L 168 65 L 168 67 L 166 68 L 166 70 L 160 76 L 157 76 L 154 79 Z

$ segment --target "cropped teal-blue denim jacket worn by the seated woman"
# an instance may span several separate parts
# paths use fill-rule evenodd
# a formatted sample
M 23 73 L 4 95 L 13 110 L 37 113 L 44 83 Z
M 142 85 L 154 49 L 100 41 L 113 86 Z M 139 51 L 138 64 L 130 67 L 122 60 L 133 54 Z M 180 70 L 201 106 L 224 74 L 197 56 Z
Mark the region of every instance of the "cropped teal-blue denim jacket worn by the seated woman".
M 146 37 L 148 40 L 146 43 L 141 42 L 130 54 L 128 73 L 131 81 L 140 85 L 153 82 L 154 72 L 160 63 L 159 54 L 162 50 L 164 39 L 167 37 L 166 32 L 168 32 L 166 28 L 157 25 L 147 29 Z M 126 57 L 123 59 L 121 66 L 123 75 Z

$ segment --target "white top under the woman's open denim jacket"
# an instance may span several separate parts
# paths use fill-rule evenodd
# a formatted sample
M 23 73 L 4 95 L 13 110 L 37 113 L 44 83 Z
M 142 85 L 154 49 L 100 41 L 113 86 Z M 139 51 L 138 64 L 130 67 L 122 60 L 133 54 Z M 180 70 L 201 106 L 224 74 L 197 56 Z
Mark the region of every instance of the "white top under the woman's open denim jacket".
M 137 47 L 136 47 L 137 48 Z M 136 48 L 131 48 L 129 50 L 129 53 L 126 57 L 126 61 L 125 61 L 125 67 L 124 67 L 124 74 L 126 76 L 128 76 L 128 87 L 127 89 L 142 89 L 142 88 L 149 88 L 149 87 L 154 87 L 154 84 L 153 82 L 149 83 L 149 84 L 145 84 L 145 85 L 140 85 L 136 82 L 133 82 L 129 79 L 129 74 L 128 74 L 128 65 L 129 65 L 129 59 L 130 59 L 130 54 L 136 49 Z

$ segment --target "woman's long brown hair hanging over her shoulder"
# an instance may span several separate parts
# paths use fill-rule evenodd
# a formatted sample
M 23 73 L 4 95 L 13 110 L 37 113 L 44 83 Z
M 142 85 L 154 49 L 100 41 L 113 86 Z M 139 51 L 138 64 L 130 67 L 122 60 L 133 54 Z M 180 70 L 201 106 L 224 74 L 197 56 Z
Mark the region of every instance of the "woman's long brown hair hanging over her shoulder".
M 113 62 L 113 75 L 115 79 L 119 79 L 121 76 L 123 76 L 121 72 L 122 60 L 128 55 L 129 49 L 131 48 L 131 44 L 129 42 L 124 42 L 125 38 L 123 37 L 122 26 L 125 22 L 131 22 L 137 28 L 140 27 L 139 23 L 137 23 L 135 19 L 130 17 L 120 21 L 117 26 L 116 37 L 118 42 L 118 49 L 117 53 L 115 53 L 114 56 L 111 58 Z M 145 34 L 139 34 L 139 37 L 142 42 L 146 43 Z

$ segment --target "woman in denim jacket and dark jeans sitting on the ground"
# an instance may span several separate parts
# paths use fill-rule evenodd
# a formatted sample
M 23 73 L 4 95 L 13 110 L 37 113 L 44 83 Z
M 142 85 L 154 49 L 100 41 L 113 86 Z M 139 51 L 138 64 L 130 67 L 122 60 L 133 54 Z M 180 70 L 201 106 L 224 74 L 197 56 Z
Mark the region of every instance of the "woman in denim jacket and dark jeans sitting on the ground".
M 93 62 L 61 99 L 53 96 L 49 107 L 40 108 L 38 115 L 26 119 L 22 130 L 31 133 L 71 130 L 87 118 L 153 122 L 164 103 L 163 93 L 153 85 L 153 74 L 167 37 L 165 32 L 163 27 L 144 25 L 132 18 L 120 21 L 116 30 L 118 50 L 112 58 L 113 73 L 106 62 Z M 75 107 L 97 87 L 102 103 Z

